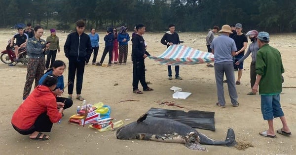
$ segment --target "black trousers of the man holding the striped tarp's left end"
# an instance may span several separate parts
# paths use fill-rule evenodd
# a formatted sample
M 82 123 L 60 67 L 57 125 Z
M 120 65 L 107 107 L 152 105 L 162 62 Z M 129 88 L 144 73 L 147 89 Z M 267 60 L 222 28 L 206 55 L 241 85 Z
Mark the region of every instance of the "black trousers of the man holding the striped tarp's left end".
M 145 79 L 145 63 L 134 61 L 133 62 L 133 91 L 138 89 L 139 81 L 143 87 L 143 90 L 148 88 Z

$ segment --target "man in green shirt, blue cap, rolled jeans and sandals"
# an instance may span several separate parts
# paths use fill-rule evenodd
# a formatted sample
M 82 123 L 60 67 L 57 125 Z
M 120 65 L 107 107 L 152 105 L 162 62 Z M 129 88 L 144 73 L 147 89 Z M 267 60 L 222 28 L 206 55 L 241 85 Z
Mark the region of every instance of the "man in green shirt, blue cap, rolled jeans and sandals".
M 257 38 L 259 46 L 259 51 L 256 57 L 257 79 L 252 91 L 253 93 L 257 93 L 258 86 L 260 86 L 261 112 L 263 119 L 268 122 L 268 130 L 260 132 L 259 135 L 276 138 L 273 128 L 273 118 L 279 117 L 283 127 L 278 129 L 277 133 L 290 136 L 291 131 L 280 104 L 282 73 L 285 71 L 281 54 L 277 49 L 269 46 L 269 34 L 267 32 L 259 32 Z

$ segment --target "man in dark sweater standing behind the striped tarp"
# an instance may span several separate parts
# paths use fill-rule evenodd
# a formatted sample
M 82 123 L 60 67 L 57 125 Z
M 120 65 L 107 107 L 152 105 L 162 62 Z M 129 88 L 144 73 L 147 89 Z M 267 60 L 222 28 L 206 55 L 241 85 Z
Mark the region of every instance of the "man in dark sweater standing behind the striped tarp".
M 171 24 L 169 25 L 169 31 L 167 31 L 163 37 L 161 38 L 160 42 L 164 45 L 167 45 L 169 47 L 170 45 L 180 44 L 179 35 L 177 32 L 175 32 L 175 25 Z M 176 79 L 182 80 L 182 77 L 179 76 L 179 70 L 180 66 L 175 65 L 175 71 L 176 71 Z M 169 72 L 169 80 L 172 80 L 172 67 L 171 65 L 168 65 L 168 72 Z

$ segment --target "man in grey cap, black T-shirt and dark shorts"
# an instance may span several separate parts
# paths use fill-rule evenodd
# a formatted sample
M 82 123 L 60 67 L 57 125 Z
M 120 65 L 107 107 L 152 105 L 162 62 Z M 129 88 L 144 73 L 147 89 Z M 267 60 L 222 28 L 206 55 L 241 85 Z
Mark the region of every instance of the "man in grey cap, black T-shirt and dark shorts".
M 248 46 L 248 38 L 242 33 L 243 26 L 240 23 L 235 24 L 236 34 L 232 36 L 232 39 L 235 42 L 237 51 L 235 51 L 235 61 L 233 62 L 233 66 L 235 70 L 238 70 L 238 78 L 236 80 L 236 85 L 240 85 L 240 79 L 243 75 L 244 62 L 240 62 L 238 65 L 235 62 L 239 61 L 245 55 L 245 49 Z

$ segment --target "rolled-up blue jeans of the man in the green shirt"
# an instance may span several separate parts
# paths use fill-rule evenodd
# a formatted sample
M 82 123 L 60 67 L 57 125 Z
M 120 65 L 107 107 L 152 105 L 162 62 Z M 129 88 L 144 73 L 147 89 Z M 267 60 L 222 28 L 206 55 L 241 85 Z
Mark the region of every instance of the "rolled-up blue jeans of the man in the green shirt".
M 273 118 L 284 116 L 280 94 L 261 95 L 261 112 L 264 120 L 273 120 Z

